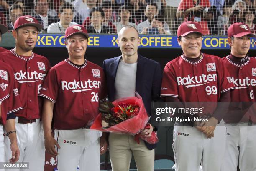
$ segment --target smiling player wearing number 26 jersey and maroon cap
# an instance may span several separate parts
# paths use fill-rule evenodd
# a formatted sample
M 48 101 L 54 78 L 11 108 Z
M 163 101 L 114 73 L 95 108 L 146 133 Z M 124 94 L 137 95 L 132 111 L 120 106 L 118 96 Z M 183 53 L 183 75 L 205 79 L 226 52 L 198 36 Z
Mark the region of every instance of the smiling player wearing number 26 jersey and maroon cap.
M 84 59 L 88 38 L 82 25 L 67 28 L 69 57 L 50 69 L 39 94 L 45 97 L 46 151 L 57 156 L 59 171 L 74 171 L 78 165 L 80 171 L 99 171 L 100 154 L 107 150 L 107 141 L 100 138 L 100 132 L 89 129 L 100 102 L 106 99 L 106 91 L 102 68 Z M 51 135 L 52 119 L 55 139 Z

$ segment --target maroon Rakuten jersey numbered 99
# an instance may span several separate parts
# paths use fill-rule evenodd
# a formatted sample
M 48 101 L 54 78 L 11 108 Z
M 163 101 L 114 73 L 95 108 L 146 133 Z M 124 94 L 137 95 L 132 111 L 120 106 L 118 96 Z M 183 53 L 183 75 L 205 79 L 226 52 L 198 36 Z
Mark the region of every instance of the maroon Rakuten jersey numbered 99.
M 181 102 L 217 102 L 220 93 L 234 88 L 226 77 L 220 57 L 202 54 L 192 63 L 182 55 L 166 64 L 160 96 L 178 97 Z M 205 112 L 212 114 L 215 107 Z

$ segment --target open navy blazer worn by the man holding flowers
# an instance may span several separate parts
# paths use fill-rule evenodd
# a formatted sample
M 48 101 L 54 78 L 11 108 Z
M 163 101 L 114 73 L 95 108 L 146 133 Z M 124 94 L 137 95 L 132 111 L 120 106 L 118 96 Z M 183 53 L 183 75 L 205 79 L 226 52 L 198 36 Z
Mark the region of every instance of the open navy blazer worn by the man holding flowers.
M 103 62 L 103 70 L 108 87 L 108 100 L 110 102 L 115 100 L 115 76 L 121 57 L 122 56 L 106 59 Z M 135 89 L 142 97 L 148 116 L 151 116 L 151 102 L 160 100 L 162 80 L 161 67 L 158 62 L 141 55 L 138 55 L 137 62 Z M 149 150 L 156 147 L 156 144 L 148 144 L 146 142 L 145 144 Z

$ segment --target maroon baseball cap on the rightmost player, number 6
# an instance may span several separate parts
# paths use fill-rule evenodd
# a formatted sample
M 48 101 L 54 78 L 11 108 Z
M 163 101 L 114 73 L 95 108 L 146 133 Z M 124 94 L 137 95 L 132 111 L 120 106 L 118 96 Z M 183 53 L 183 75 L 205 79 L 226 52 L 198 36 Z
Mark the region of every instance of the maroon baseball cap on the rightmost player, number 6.
M 228 37 L 243 37 L 245 35 L 255 37 L 248 25 L 242 22 L 236 22 L 228 27 Z

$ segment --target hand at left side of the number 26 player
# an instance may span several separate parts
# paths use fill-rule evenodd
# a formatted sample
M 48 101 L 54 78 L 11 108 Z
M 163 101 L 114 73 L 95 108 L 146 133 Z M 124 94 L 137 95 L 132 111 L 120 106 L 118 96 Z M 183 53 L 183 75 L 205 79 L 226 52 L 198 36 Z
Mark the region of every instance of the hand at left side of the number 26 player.
M 58 152 L 55 150 L 55 145 L 58 149 L 60 149 L 59 144 L 57 143 L 56 139 L 54 139 L 54 137 L 51 136 L 51 134 L 44 137 L 44 146 L 46 152 L 53 156 L 58 155 Z

